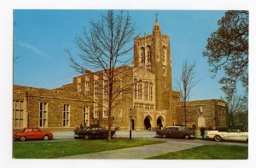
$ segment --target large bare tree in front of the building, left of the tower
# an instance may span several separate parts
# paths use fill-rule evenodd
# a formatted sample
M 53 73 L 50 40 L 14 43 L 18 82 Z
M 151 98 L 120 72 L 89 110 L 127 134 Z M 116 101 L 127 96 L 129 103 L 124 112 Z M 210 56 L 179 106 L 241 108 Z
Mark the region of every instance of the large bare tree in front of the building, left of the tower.
M 132 67 L 125 66 L 124 69 L 117 69 L 119 64 L 127 63 L 127 56 L 132 47 L 127 44 L 133 40 L 134 24 L 131 22 L 131 16 L 120 11 L 115 14 L 113 10 L 109 10 L 107 14 L 102 14 L 101 19 L 96 22 L 90 21 L 90 30 L 83 29 L 81 36 L 75 37 L 75 43 L 79 48 L 79 59 L 73 57 L 68 50 L 70 64 L 74 70 L 84 73 L 84 69 L 102 70 L 101 73 L 95 73 L 99 78 L 106 81 L 102 84 L 104 92 L 108 94 L 108 105 L 104 106 L 108 109 L 108 140 L 111 139 L 111 127 L 113 122 L 112 110 L 119 103 L 114 100 L 119 97 L 121 92 L 132 90 L 130 87 L 114 87 L 120 74 L 131 72 Z M 130 73 L 132 74 L 132 73 Z M 101 77 L 103 75 L 103 77 Z

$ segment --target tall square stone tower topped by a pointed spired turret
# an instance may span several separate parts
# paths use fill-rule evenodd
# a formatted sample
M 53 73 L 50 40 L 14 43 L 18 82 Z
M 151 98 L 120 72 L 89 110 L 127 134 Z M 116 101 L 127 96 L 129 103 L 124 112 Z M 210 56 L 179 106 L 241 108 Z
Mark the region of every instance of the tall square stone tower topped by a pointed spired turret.
M 153 35 L 137 36 L 134 39 L 133 64 L 155 75 L 155 109 L 170 109 L 172 91 L 170 39 L 167 35 L 161 35 L 157 16 Z

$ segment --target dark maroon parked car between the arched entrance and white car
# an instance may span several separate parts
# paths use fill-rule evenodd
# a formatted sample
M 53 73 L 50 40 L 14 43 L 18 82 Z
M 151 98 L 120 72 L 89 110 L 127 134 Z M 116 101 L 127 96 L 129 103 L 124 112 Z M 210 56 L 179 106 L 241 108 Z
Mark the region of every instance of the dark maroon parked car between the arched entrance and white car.
M 166 126 L 164 130 L 157 130 L 156 134 L 161 137 L 175 137 L 189 139 L 194 137 L 193 132 L 185 126 Z

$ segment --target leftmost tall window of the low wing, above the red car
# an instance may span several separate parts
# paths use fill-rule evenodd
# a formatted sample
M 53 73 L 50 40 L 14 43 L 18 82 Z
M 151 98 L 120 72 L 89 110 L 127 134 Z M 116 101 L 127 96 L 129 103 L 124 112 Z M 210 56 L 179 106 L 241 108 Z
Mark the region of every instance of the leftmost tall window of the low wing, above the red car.
M 23 101 L 14 101 L 14 127 L 23 127 L 23 115 L 24 115 L 24 103 Z

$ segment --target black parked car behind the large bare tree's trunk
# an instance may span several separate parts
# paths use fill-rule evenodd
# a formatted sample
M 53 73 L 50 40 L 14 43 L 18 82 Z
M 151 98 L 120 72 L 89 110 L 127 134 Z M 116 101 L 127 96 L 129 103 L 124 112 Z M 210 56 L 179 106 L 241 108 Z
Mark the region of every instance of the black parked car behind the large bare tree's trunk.
M 78 128 L 74 130 L 75 137 L 74 138 L 108 138 L 108 130 L 105 129 L 102 126 L 88 126 L 84 128 Z M 111 131 L 111 137 L 113 137 L 113 134 L 115 133 L 115 130 Z

